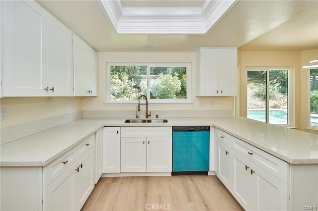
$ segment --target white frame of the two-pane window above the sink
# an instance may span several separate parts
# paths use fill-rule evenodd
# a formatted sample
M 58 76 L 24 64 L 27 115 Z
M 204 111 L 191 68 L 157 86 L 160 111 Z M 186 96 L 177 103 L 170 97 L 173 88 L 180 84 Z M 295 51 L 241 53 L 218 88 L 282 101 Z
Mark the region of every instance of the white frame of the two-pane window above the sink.
M 147 66 L 147 98 L 151 104 L 190 104 L 191 103 L 191 63 L 107 63 L 106 102 L 105 104 L 136 104 L 138 101 L 111 101 L 110 99 L 110 66 Z M 186 99 L 150 99 L 150 68 L 151 67 L 186 67 L 187 98 Z

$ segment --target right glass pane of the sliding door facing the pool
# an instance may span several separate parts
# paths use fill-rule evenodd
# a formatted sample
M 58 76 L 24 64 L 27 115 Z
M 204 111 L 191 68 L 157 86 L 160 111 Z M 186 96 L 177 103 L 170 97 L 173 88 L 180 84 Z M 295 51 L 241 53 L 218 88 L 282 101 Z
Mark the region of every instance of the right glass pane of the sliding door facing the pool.
M 288 124 L 288 70 L 269 70 L 269 123 Z

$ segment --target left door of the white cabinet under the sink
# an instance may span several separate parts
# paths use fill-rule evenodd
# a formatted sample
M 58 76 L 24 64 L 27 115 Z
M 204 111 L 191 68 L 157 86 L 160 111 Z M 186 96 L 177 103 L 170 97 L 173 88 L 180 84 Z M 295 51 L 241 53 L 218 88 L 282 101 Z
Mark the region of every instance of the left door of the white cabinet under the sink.
M 146 137 L 122 137 L 121 172 L 146 172 Z

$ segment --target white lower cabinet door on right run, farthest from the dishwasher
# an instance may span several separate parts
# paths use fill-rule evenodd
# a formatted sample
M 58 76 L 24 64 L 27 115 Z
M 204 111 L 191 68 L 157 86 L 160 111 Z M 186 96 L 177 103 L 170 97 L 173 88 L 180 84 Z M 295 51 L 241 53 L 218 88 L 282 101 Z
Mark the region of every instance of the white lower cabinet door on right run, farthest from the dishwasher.
M 289 210 L 289 186 L 253 164 L 251 174 L 252 209 L 255 211 Z

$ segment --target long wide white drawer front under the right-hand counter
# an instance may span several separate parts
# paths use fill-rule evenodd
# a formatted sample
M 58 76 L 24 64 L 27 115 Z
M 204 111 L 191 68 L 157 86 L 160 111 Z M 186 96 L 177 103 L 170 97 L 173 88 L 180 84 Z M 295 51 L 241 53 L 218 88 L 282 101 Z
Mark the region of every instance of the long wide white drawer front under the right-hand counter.
M 265 171 L 278 178 L 285 184 L 289 184 L 289 164 L 284 160 L 276 158 L 234 136 L 231 137 L 232 149 L 243 157 L 254 162 Z

